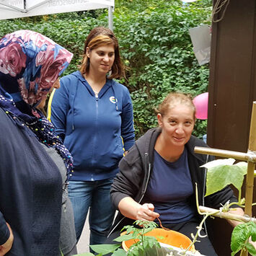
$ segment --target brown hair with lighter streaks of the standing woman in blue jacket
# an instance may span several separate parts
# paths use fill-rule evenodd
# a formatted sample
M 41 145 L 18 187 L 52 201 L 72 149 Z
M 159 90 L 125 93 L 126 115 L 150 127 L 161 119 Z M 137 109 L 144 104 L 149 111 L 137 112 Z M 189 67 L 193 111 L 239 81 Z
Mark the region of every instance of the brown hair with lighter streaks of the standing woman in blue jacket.
M 123 64 L 120 58 L 118 39 L 115 37 L 112 30 L 107 27 L 94 27 L 87 39 L 84 42 L 84 55 L 80 66 L 81 74 L 87 74 L 89 72 L 89 58 L 87 57 L 87 47 L 93 50 L 102 45 L 114 45 L 115 60 L 112 65 L 111 74 L 109 79 L 118 78 L 123 76 Z

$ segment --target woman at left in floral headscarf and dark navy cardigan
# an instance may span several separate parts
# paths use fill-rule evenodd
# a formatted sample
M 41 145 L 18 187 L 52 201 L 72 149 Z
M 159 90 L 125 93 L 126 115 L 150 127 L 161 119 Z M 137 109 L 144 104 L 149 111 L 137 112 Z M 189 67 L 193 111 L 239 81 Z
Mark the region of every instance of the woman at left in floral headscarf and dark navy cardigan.
M 59 87 L 72 56 L 30 30 L 0 40 L 0 255 L 56 256 L 60 248 L 71 255 L 76 248 L 66 192 L 73 160 L 36 109 Z

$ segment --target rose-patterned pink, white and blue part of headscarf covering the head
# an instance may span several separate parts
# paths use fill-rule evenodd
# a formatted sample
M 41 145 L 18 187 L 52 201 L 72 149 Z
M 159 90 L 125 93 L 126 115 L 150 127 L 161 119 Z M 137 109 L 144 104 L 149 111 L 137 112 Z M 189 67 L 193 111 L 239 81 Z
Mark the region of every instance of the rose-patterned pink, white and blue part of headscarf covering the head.
M 69 66 L 73 54 L 38 32 L 19 30 L 0 40 L 0 74 L 17 81 L 20 97 L 35 105 Z M 0 79 L 1 83 L 1 79 Z M 11 83 L 6 92 L 13 92 Z

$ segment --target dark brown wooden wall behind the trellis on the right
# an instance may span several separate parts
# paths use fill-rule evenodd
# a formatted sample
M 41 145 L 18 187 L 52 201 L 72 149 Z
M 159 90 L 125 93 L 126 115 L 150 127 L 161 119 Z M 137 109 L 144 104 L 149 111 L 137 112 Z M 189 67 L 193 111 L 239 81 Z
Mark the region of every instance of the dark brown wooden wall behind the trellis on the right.
M 255 17 L 255 0 L 231 0 L 224 19 L 212 25 L 207 142 L 216 149 L 248 149 L 256 100 Z M 230 255 L 231 228 L 224 220 L 214 222 L 214 247 L 219 256 Z

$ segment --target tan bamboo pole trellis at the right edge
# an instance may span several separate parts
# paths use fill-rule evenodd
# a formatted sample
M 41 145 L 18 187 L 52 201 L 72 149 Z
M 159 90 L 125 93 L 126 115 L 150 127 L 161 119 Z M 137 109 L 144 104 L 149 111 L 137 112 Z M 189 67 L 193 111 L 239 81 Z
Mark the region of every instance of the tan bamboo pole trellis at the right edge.
M 249 136 L 249 146 L 247 153 L 237 152 L 237 151 L 228 151 L 222 149 L 211 149 L 204 147 L 195 147 L 195 153 L 199 154 L 210 154 L 213 156 L 221 156 L 221 157 L 231 157 L 237 160 L 246 161 L 248 163 L 247 166 L 247 177 L 245 184 L 245 208 L 244 213 L 245 216 L 237 216 L 232 213 L 219 213 L 213 214 L 214 216 L 221 217 L 224 219 L 240 219 L 241 221 L 248 222 L 254 221 L 256 223 L 256 219 L 252 218 L 252 199 L 253 199 L 253 186 L 254 186 L 254 172 L 255 172 L 255 163 L 256 163 L 256 102 L 252 104 L 252 118 L 250 125 L 250 136 Z M 206 208 L 203 206 L 199 207 L 202 212 L 214 212 L 216 209 Z M 248 252 L 243 252 L 243 256 L 248 255 Z

